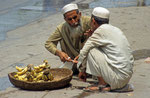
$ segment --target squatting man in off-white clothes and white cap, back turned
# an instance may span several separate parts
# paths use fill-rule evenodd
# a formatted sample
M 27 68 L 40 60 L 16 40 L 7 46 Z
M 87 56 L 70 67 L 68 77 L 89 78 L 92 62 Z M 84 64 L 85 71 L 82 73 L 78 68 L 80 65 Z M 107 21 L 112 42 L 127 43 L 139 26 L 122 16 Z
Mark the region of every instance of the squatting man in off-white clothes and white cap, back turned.
M 93 32 L 80 50 L 77 67 L 80 79 L 86 79 L 88 73 L 98 77 L 99 85 L 85 90 L 133 90 L 128 84 L 133 74 L 132 51 L 123 32 L 108 24 L 109 14 L 102 7 L 97 7 L 92 12 Z M 87 61 L 86 67 L 82 65 L 84 60 Z

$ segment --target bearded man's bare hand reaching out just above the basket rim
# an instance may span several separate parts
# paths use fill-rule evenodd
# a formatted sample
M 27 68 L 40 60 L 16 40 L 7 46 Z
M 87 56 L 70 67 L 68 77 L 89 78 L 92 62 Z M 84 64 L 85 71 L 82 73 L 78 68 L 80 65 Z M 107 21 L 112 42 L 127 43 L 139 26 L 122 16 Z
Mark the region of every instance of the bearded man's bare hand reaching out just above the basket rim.
M 71 62 L 72 61 L 72 59 L 65 52 L 56 50 L 56 55 L 59 56 L 59 58 L 62 62 L 66 62 L 66 61 Z

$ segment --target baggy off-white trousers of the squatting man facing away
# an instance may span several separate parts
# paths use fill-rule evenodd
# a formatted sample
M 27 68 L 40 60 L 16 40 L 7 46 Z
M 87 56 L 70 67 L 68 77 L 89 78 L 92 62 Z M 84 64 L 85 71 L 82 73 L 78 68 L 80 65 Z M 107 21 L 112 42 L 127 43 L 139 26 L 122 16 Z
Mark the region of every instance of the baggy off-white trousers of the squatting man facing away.
M 122 88 L 131 78 L 131 76 L 124 76 L 118 69 L 108 64 L 103 52 L 97 48 L 93 48 L 88 53 L 86 72 L 94 76 L 101 76 L 111 89 Z

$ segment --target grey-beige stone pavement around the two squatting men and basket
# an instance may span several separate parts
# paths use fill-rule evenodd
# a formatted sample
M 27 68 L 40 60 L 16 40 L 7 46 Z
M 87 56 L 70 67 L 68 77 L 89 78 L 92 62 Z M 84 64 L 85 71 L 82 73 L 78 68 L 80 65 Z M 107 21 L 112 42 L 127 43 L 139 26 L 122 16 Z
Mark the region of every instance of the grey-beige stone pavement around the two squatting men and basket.
M 94 81 L 88 79 L 87 83 L 83 83 L 75 76 L 71 81 L 71 86 L 50 91 L 26 91 L 9 83 L 7 74 L 16 71 L 16 65 L 30 63 L 38 65 L 44 59 L 47 59 L 53 68 L 62 64 L 58 57 L 44 48 L 44 43 L 50 33 L 60 22 L 63 22 L 61 13 L 57 13 L 7 32 L 7 39 L 0 42 L 0 98 L 110 98 L 110 96 L 111 98 L 149 98 L 150 64 L 144 62 L 145 58 L 150 56 L 149 9 L 149 6 L 109 9 L 111 11 L 110 23 L 124 31 L 134 51 L 136 61 L 130 81 L 135 86 L 134 92 L 85 93 L 82 88 Z M 91 11 L 91 9 L 82 10 L 84 15 L 90 15 Z

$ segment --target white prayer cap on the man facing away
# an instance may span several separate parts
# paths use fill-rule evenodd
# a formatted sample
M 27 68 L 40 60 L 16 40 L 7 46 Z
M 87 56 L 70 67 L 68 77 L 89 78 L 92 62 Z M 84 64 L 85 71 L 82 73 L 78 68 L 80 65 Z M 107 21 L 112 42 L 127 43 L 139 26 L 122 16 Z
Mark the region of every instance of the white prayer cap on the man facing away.
M 109 10 L 107 10 L 106 8 L 103 7 L 96 7 L 94 8 L 92 14 L 94 16 L 100 17 L 100 18 L 105 18 L 105 19 L 109 19 Z

